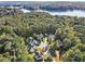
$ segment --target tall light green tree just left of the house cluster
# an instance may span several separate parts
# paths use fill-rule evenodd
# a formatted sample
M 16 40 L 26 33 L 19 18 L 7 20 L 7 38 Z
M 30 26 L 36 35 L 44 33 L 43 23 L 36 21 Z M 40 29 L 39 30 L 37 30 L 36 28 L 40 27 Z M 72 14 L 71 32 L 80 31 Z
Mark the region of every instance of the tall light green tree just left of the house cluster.
M 25 46 L 25 41 L 22 37 L 20 38 L 18 36 L 14 37 L 13 49 L 14 49 L 15 56 L 16 56 L 15 61 L 18 61 L 18 62 L 28 61 L 28 50 L 27 50 L 27 47 Z

